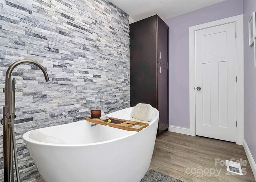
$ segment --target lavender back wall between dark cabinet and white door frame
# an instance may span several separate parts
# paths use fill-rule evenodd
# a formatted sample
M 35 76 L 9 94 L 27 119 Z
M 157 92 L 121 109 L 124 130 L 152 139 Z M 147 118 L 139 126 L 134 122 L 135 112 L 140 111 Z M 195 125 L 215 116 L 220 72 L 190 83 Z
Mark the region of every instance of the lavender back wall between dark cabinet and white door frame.
M 239 14 L 243 14 L 243 1 L 226 0 L 165 20 L 169 26 L 170 125 L 189 128 L 189 27 Z

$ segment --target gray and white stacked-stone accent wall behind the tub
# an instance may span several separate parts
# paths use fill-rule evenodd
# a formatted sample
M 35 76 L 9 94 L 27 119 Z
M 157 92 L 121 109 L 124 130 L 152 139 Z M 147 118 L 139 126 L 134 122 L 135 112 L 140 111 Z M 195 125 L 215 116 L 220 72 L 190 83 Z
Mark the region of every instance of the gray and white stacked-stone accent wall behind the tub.
M 21 181 L 40 176 L 22 134 L 29 130 L 76 122 L 90 110 L 109 113 L 130 106 L 129 16 L 102 0 L 0 0 L 0 114 L 4 77 L 15 68 L 16 142 Z M 0 125 L 0 182 L 3 182 Z

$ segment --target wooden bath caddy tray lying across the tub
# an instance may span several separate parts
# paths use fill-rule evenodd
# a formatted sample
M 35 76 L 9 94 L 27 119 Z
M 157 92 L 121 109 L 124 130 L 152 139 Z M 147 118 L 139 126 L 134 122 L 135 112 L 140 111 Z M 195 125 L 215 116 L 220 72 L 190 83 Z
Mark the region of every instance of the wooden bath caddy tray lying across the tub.
M 108 122 L 109 118 L 111 119 L 111 122 Z M 108 125 L 110 127 L 119 128 L 119 129 L 128 130 L 128 131 L 136 131 L 136 132 L 139 132 L 140 130 L 148 126 L 148 123 L 136 122 L 131 120 L 122 120 L 122 119 L 112 118 L 112 117 L 107 117 L 106 120 L 92 119 L 91 117 L 84 118 L 84 119 L 89 122 Z M 119 123 L 119 124 L 116 124 L 116 123 Z

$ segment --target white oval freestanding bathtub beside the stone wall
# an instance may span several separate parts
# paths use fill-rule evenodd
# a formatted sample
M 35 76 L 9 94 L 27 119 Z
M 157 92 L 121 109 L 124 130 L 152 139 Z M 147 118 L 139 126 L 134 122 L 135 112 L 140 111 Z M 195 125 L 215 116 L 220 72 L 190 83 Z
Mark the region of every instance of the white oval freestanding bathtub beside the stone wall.
M 106 116 L 129 120 L 133 107 Z M 146 174 L 156 139 L 159 112 L 140 132 L 96 125 L 86 120 L 38 129 L 62 140 L 53 144 L 23 140 L 46 182 L 139 182 Z

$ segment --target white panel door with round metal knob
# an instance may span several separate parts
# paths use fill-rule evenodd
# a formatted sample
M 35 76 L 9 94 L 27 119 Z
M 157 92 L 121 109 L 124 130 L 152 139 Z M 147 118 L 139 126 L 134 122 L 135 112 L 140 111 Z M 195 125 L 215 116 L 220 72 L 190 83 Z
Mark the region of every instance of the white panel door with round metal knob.
M 196 135 L 236 142 L 236 23 L 195 33 Z

